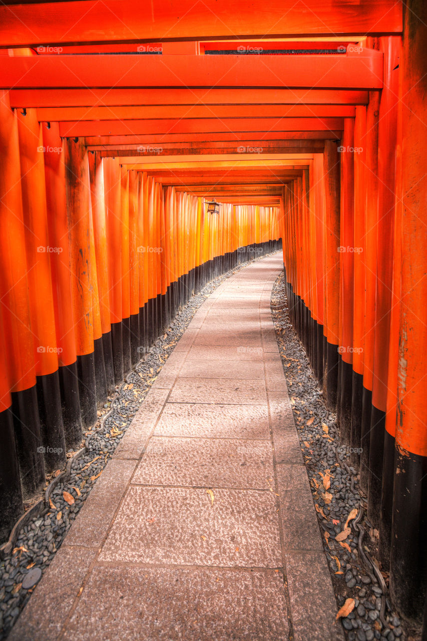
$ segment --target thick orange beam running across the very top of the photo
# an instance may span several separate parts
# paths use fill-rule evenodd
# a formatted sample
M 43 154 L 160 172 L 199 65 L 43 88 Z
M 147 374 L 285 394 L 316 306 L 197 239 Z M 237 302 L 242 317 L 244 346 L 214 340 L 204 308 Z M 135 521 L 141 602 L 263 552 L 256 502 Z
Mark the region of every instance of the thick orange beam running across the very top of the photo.
M 125 40 L 208 40 L 289 35 L 387 34 L 402 30 L 401 3 L 359 0 L 97 0 L 0 7 L 6 47 Z

